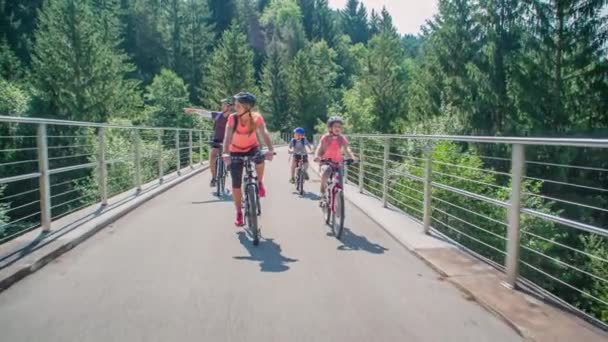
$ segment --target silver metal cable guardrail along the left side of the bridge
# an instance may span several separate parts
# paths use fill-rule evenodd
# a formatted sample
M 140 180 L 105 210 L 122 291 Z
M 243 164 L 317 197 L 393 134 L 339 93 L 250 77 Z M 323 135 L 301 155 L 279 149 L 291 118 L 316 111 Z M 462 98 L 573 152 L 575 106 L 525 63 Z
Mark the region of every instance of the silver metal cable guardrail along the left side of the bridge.
M 0 116 L 0 243 L 47 232 L 59 217 L 202 164 L 210 137 L 200 129 Z

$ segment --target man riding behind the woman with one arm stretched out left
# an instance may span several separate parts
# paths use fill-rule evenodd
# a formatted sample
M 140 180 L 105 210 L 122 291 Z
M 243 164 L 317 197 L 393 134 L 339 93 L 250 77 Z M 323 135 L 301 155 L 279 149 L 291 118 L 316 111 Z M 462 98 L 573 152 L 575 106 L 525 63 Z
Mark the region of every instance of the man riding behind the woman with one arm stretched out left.
M 202 117 L 210 118 L 213 120 L 213 141 L 212 141 L 212 149 L 209 155 L 209 167 L 211 169 L 211 187 L 216 185 L 216 158 L 220 149 L 222 148 L 222 144 L 224 143 L 224 135 L 226 134 L 226 125 L 228 124 L 228 117 L 234 109 L 232 107 L 233 100 L 232 98 L 225 98 L 222 101 L 222 111 L 221 112 L 208 112 L 202 109 L 195 108 L 184 108 L 184 112 L 190 114 L 199 114 Z

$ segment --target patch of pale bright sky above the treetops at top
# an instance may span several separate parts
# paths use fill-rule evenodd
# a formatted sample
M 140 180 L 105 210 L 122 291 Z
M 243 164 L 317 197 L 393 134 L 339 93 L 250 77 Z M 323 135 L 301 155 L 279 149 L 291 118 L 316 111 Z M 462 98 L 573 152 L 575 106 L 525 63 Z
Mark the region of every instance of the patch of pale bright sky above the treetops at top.
M 333 8 L 344 8 L 347 0 L 329 0 Z M 427 19 L 437 11 L 437 0 L 361 0 L 367 11 L 372 8 L 380 12 L 382 6 L 393 16 L 393 22 L 401 34 L 419 33 Z

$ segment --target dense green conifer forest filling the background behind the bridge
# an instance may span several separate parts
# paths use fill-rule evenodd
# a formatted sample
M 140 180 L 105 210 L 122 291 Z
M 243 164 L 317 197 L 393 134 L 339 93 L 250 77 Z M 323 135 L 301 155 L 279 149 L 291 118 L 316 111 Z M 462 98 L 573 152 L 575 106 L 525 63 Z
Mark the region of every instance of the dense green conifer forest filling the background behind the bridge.
M 201 127 L 181 108 L 215 109 L 219 99 L 249 90 L 274 131 L 320 132 L 329 115 L 341 115 L 349 133 L 606 137 L 607 6 L 603 0 L 439 0 L 420 34 L 401 35 L 392 17 L 398 13 L 368 11 L 358 0 L 339 10 L 328 0 L 0 0 L 0 113 Z M 0 129 L 1 136 L 9 128 Z M 111 153 L 125 153 L 127 138 L 113 136 Z M 370 141 L 366 148 L 382 147 Z M 422 175 L 421 146 L 392 149 L 414 158 L 394 160 L 395 168 Z M 484 156 L 508 153 L 504 146 L 441 143 L 433 157 L 441 174 L 477 180 L 442 176 L 442 183 L 506 200 L 509 180 L 482 170 L 504 170 Z M 528 208 L 608 228 L 606 190 L 589 189 L 608 188 L 606 151 L 539 147 L 527 158 L 538 163 L 528 169 L 525 189 L 537 195 L 526 198 Z M 132 170 L 113 172 L 124 179 Z M 70 186 L 87 195 L 95 190 L 89 183 Z M 421 185 L 408 178 L 394 185 L 402 191 L 391 193 L 393 204 L 419 216 Z M 0 195 L 17 190 L 0 188 Z M 503 263 L 503 255 L 484 246 L 504 250 L 504 210 L 443 190 L 434 196 L 438 230 Z M 10 207 L 0 205 L 0 224 L 16 215 Z M 5 226 L 2 237 L 12 234 Z M 522 274 L 608 322 L 608 241 L 530 217 L 522 229 L 522 260 L 533 266 Z

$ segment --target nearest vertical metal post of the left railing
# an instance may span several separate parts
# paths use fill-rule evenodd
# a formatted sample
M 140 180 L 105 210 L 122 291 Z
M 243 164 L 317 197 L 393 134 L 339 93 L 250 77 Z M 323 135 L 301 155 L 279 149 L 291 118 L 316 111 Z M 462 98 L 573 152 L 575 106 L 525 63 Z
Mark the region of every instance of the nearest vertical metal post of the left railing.
M 38 172 L 40 177 L 40 226 L 43 232 L 51 230 L 51 177 L 49 174 L 49 150 L 46 135 L 46 125 L 38 125 L 36 138 L 38 148 Z

